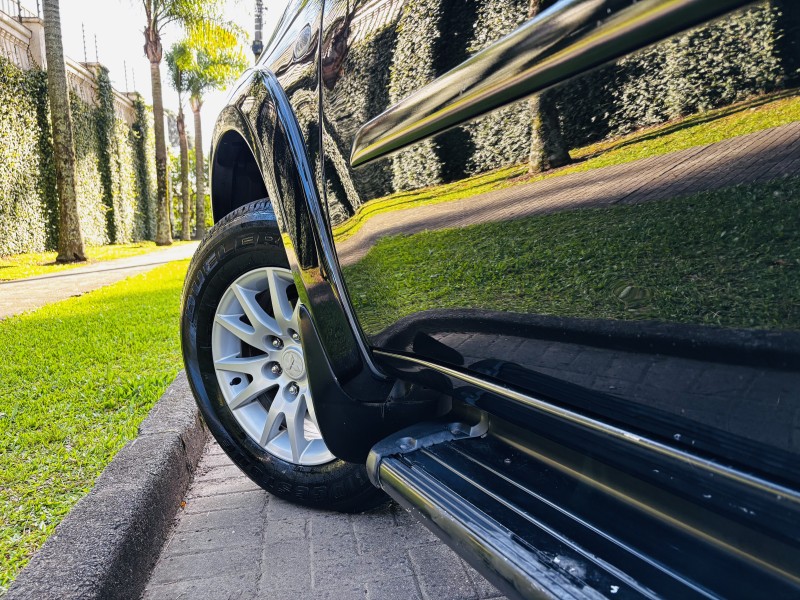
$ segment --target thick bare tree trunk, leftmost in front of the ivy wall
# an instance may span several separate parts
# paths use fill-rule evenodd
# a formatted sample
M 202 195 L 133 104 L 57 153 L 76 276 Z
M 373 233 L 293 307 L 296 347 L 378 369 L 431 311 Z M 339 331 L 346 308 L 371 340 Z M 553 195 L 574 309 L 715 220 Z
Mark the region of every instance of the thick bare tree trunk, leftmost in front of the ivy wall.
M 75 146 L 72 140 L 72 114 L 69 108 L 58 0 L 44 2 L 44 36 L 47 96 L 50 100 L 50 119 L 53 126 L 53 162 L 58 189 L 56 262 L 83 261 L 86 260 L 86 253 L 78 216 L 78 196 L 75 192 Z

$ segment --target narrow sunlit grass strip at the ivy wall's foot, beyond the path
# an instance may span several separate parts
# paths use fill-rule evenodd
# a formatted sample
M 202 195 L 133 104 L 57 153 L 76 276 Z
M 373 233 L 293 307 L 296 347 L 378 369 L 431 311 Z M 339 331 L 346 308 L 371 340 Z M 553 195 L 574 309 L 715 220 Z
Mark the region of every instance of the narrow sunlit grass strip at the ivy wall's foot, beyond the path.
M 174 245 L 188 243 L 190 242 L 173 242 Z M 12 281 L 15 279 L 24 279 L 25 277 L 49 275 L 50 273 L 58 273 L 59 271 L 74 269 L 75 267 L 82 267 L 91 263 L 138 256 L 160 249 L 162 248 L 156 246 L 155 242 L 88 246 L 86 248 L 87 262 L 66 264 L 58 264 L 55 262 L 56 256 L 58 255 L 57 252 L 29 252 L 26 254 L 2 256 L 0 257 L 0 281 Z

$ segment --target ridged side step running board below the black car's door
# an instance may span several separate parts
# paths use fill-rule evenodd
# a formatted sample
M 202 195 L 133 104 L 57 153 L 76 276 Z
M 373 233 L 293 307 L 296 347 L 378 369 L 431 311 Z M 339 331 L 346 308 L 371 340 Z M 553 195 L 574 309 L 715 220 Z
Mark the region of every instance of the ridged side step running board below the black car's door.
M 509 597 L 796 597 L 758 561 L 593 483 L 590 460 L 570 473 L 487 429 L 421 424 L 377 444 L 367 467 Z

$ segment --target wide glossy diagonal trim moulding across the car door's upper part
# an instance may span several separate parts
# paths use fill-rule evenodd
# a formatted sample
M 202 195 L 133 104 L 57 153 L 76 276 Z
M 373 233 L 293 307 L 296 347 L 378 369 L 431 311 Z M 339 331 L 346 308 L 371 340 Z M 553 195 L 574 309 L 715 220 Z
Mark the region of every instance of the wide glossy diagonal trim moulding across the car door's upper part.
M 752 0 L 561 0 L 359 129 L 362 165 Z

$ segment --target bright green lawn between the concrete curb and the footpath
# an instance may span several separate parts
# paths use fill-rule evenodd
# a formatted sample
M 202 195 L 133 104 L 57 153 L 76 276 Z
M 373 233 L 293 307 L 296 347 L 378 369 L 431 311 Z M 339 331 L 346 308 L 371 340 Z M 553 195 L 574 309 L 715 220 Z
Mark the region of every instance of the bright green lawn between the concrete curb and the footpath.
M 187 266 L 0 322 L 0 595 L 180 370 Z

